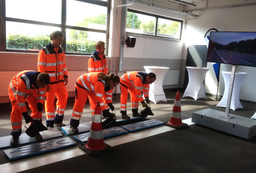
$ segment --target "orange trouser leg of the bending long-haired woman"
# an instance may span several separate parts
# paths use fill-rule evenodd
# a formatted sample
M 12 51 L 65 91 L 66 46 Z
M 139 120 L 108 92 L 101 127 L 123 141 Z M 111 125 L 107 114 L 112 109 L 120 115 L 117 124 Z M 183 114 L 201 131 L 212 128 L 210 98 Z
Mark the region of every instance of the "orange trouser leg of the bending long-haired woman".
M 85 102 L 88 97 L 88 91 L 85 89 L 82 89 L 75 85 L 75 88 L 77 89 L 77 97 L 75 97 L 75 104 L 72 112 L 72 117 L 70 120 L 70 126 L 71 127 L 78 127 L 79 126 L 79 120 L 82 116 L 83 112 L 83 106 L 85 106 Z

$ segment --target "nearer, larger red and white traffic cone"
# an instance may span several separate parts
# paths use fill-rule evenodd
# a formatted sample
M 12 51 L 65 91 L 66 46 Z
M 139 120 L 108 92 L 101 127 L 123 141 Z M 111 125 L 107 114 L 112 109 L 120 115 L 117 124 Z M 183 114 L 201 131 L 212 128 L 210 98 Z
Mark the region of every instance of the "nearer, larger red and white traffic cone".
M 97 102 L 88 142 L 86 145 L 79 145 L 79 148 L 85 151 L 87 155 L 98 155 L 112 149 L 111 146 L 104 143 L 101 116 L 101 106 L 99 105 L 99 102 Z

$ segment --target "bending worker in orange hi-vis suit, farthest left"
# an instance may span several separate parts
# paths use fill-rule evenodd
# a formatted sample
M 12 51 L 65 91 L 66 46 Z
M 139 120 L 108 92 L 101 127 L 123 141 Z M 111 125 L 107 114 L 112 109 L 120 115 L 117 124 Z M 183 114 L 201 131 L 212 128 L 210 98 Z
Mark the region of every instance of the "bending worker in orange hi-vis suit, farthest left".
M 39 112 L 43 110 L 43 101 L 45 100 L 46 88 L 50 83 L 50 76 L 47 73 L 38 71 L 22 71 L 11 80 L 9 85 L 9 100 L 11 103 L 11 127 L 13 131 L 10 144 L 17 145 L 19 136 L 22 133 L 22 116 L 26 123 L 33 119 L 41 119 Z M 31 116 L 27 113 L 25 102 L 29 103 L 32 110 Z M 42 140 L 38 133 L 35 136 L 37 141 Z

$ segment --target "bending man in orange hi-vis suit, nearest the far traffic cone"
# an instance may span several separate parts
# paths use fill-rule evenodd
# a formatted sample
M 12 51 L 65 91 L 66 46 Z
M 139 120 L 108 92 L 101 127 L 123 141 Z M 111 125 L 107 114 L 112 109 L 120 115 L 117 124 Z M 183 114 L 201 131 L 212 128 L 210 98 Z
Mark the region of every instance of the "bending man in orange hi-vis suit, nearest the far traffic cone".
M 131 110 L 133 112 L 133 117 L 140 117 L 141 114 L 138 113 L 139 101 L 142 103 L 143 107 L 147 107 L 149 100 L 149 84 L 152 84 L 156 79 L 154 73 L 142 73 L 138 71 L 132 71 L 125 73 L 120 78 L 120 90 L 121 90 L 121 114 L 122 119 L 129 120 L 130 116 L 127 115 L 127 98 L 128 90 L 131 98 Z M 144 99 L 142 97 L 142 92 L 144 93 Z

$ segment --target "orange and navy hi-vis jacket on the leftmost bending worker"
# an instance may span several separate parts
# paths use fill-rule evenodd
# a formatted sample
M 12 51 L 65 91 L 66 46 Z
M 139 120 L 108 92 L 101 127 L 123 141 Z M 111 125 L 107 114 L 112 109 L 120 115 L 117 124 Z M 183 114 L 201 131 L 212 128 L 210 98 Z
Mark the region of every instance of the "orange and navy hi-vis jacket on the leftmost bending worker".
M 12 93 L 9 92 L 10 101 L 13 103 L 17 100 L 21 113 L 27 112 L 26 98 L 29 96 L 37 97 L 37 103 L 42 103 L 46 96 L 46 87 L 38 88 L 36 85 L 38 71 L 22 71 L 11 80 L 9 87 Z

